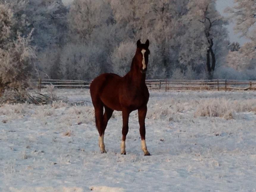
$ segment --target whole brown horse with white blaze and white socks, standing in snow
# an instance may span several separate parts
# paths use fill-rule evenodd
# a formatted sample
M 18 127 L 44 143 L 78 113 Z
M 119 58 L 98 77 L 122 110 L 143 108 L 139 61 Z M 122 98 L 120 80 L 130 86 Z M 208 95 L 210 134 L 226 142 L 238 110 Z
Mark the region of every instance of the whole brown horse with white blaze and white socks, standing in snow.
M 145 141 L 145 117 L 149 92 L 145 84 L 148 56 L 150 51 L 149 40 L 142 44 L 137 41 L 135 56 L 132 60 L 131 70 L 123 77 L 113 73 L 104 73 L 96 77 L 91 85 L 90 92 L 92 104 L 95 109 L 95 122 L 99 132 L 99 147 L 101 153 L 106 153 L 104 133 L 113 111 L 122 111 L 122 143 L 121 154 L 126 155 L 125 139 L 128 133 L 129 114 L 138 110 L 139 132 L 141 147 L 144 155 L 150 155 Z M 105 112 L 103 114 L 103 107 Z

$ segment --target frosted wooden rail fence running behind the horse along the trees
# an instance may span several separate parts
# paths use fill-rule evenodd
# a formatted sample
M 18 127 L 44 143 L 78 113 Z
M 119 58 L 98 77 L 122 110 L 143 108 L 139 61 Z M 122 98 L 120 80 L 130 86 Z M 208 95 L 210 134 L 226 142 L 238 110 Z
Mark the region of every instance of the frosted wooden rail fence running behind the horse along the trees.
M 39 79 L 38 89 L 54 86 L 56 88 L 89 88 L 91 80 L 58 80 Z M 146 80 L 148 89 L 169 91 L 169 90 L 256 90 L 256 81 L 238 80 L 171 80 L 156 79 Z

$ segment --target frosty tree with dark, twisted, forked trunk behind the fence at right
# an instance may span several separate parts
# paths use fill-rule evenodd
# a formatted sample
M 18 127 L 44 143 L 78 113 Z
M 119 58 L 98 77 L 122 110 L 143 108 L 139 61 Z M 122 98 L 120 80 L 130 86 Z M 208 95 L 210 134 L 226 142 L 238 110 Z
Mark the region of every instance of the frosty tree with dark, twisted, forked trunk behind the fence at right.
M 215 0 L 193 0 L 189 2 L 188 9 L 189 13 L 184 17 L 188 31 L 183 43 L 185 46 L 189 43 L 190 46 L 180 52 L 180 62 L 185 60 L 191 63 L 192 68 L 205 62 L 209 78 L 212 78 L 216 62 L 222 62 L 217 61 L 216 52 L 223 54 L 223 47 L 227 48 L 228 45 L 225 40 L 227 31 L 224 28 L 227 22 L 216 10 Z M 218 57 L 223 58 L 220 55 Z

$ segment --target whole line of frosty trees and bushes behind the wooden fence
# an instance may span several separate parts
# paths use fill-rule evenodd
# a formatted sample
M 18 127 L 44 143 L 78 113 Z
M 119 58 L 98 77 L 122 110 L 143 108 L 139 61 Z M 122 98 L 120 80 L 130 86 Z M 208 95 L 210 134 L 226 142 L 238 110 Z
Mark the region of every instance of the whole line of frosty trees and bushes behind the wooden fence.
M 224 18 L 215 0 L 0 0 L 0 87 L 124 75 L 138 39 L 150 40 L 147 78 L 253 80 L 255 7 L 235 0 Z M 249 43 L 227 40 L 231 18 Z

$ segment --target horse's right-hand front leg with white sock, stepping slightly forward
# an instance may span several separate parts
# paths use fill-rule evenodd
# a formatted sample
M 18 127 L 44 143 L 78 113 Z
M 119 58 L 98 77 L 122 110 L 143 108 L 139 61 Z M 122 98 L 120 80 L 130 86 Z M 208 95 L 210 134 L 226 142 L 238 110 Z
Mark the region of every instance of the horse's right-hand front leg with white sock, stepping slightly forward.
M 146 145 L 146 129 L 145 129 L 145 118 L 147 114 L 147 106 L 144 106 L 140 109 L 138 109 L 139 114 L 139 133 L 141 136 L 141 149 L 144 152 L 144 155 L 150 155 L 150 153 L 147 150 Z

